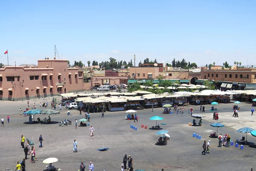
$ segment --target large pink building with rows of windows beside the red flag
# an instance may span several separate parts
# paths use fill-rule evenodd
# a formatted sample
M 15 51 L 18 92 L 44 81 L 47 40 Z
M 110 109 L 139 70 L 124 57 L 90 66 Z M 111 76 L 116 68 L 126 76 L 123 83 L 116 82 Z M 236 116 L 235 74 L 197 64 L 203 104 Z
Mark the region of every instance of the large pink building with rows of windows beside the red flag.
M 38 66 L 0 68 L 0 100 L 29 100 L 84 91 L 83 71 L 67 60 L 38 60 Z

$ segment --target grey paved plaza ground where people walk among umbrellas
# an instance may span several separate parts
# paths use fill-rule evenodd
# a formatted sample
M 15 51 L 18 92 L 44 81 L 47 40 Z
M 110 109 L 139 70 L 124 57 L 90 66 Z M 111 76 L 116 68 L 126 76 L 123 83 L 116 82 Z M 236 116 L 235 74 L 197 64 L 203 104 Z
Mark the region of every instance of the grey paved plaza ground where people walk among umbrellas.
M 46 99 L 45 99 L 46 100 Z M 36 100 L 39 107 L 41 100 Z M 50 101 L 50 99 L 48 99 Z M 32 105 L 33 100 L 30 101 Z M 84 161 L 88 171 L 89 162 L 94 164 L 95 171 L 119 171 L 121 169 L 122 158 L 124 154 L 131 155 L 134 159 L 134 168 L 145 171 L 250 171 L 250 168 L 256 169 L 256 148 L 244 146 L 244 150 L 231 146 L 230 148 L 218 148 L 218 140 L 209 138 L 210 133 L 215 132 L 216 128 L 210 126 L 215 123 L 212 120 L 212 112 L 209 112 L 210 105 L 205 105 L 207 111 L 199 111 L 198 105 L 186 105 L 185 114 L 162 114 L 163 108 L 138 110 L 139 121 L 134 123 L 131 120 L 125 120 L 125 112 L 105 112 L 105 117 L 101 114 L 91 114 L 90 124 L 95 128 L 95 136 L 90 137 L 89 127 L 78 127 L 74 129 L 74 124 L 25 124 L 29 117 L 23 117 L 18 114 L 18 109 L 26 108 L 27 101 L 23 102 L 6 102 L 0 101 L 2 107 L 1 116 L 5 119 L 5 126 L 0 127 L 0 171 L 9 168 L 9 171 L 15 171 L 17 161 L 24 158 L 23 149 L 20 145 L 21 134 L 24 137 L 33 140 L 35 143 L 36 157 L 38 161 L 30 163 L 26 160 L 27 171 L 42 171 L 47 164 L 43 163 L 48 157 L 58 158 L 54 165 L 62 171 L 77 171 L 79 164 Z M 242 127 L 256 128 L 256 114 L 250 115 L 251 104 L 241 103 L 239 107 L 239 118 L 232 117 L 234 103 L 219 104 L 215 107 L 219 111 L 218 122 L 225 125 L 219 128 L 218 133 L 230 134 L 231 139 L 241 139 L 246 134 L 236 132 Z M 193 118 L 189 116 L 187 110 L 192 107 L 194 114 L 201 114 L 203 117 L 202 126 L 189 126 Z M 58 115 L 52 115 L 52 121 L 59 122 L 67 118 L 67 110 L 61 110 Z M 79 116 L 79 111 L 73 110 L 73 116 L 68 117 L 72 120 L 84 118 Z M 6 117 L 9 114 L 11 122 L 7 123 Z M 149 120 L 152 116 L 163 117 L 164 120 L 157 123 L 166 123 L 161 125 L 163 130 L 169 130 L 171 139 L 165 146 L 155 145 L 160 136 L 155 135 L 156 130 L 141 128 L 141 125 L 151 127 L 155 121 Z M 36 115 L 43 119 L 44 115 Z M 138 127 L 137 131 L 130 128 L 134 124 Z M 201 140 L 192 137 L 193 133 L 200 134 Z M 43 147 L 38 148 L 38 137 L 43 135 Z M 78 152 L 73 153 L 73 140 L 78 142 Z M 204 140 L 211 140 L 211 154 L 201 155 Z M 256 143 L 256 138 L 248 134 L 248 141 Z M 102 148 L 102 142 L 105 147 L 110 148 L 108 151 L 97 151 Z M 30 157 L 30 156 L 29 156 Z

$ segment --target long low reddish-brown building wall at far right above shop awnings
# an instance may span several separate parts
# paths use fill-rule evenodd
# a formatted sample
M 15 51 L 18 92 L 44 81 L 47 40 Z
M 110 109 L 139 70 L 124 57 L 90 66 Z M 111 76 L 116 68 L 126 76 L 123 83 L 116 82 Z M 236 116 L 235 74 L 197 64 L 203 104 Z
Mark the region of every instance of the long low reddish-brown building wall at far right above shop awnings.
M 240 74 L 242 75 L 242 78 L 240 78 Z M 201 79 L 212 79 L 215 81 L 231 81 L 241 83 L 256 83 L 256 69 L 205 70 L 204 68 L 202 68 Z

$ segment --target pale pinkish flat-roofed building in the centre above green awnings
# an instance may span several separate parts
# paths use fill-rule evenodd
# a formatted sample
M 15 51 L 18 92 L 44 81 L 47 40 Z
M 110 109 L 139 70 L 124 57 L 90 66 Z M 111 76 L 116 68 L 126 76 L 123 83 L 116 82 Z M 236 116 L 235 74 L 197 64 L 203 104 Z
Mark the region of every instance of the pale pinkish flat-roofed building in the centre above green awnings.
M 130 67 L 129 69 L 130 78 L 134 78 L 133 74 L 136 74 L 136 79 L 149 79 L 148 73 L 152 73 L 152 78 L 155 79 L 159 75 L 159 69 L 157 67 Z

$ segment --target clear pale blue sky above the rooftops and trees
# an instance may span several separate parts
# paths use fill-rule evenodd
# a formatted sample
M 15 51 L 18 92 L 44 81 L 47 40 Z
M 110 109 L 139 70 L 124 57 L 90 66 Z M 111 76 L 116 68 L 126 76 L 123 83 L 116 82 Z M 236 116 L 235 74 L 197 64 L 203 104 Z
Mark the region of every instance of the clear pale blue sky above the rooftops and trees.
M 198 66 L 254 65 L 254 0 L 9 0 L 0 3 L 0 56 L 7 64 L 54 57 L 98 62 L 114 57 Z M 248 61 L 248 62 L 247 62 Z

